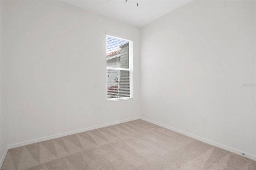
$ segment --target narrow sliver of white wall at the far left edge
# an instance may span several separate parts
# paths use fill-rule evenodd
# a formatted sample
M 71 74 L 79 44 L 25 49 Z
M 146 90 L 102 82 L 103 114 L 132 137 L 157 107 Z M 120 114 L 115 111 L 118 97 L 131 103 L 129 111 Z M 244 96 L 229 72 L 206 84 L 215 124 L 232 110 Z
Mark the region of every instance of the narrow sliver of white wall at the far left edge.
M 2 162 L 4 161 L 5 152 L 7 149 L 7 113 L 5 110 L 3 110 L 3 105 L 6 105 L 2 98 L 2 94 L 5 92 L 3 91 L 3 81 L 2 81 L 2 73 L 3 68 L 5 67 L 2 63 L 2 60 L 4 59 L 5 55 L 5 45 L 6 45 L 6 34 L 5 33 L 5 2 L 0 1 L 0 166 Z

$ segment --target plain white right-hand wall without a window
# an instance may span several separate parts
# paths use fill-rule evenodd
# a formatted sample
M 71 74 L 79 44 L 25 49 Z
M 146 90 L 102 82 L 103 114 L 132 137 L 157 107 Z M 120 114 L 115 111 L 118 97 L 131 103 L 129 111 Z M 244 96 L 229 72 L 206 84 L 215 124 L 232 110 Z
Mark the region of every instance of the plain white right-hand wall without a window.
M 143 26 L 141 117 L 256 156 L 255 20 L 255 1 L 193 1 Z

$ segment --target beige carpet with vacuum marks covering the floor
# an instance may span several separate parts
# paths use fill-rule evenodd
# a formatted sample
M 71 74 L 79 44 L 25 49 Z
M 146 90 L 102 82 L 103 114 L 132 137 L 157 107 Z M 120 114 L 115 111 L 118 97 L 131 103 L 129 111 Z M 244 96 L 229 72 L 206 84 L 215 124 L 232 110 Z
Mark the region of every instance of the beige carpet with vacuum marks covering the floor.
M 256 162 L 136 120 L 10 149 L 1 170 L 256 170 Z

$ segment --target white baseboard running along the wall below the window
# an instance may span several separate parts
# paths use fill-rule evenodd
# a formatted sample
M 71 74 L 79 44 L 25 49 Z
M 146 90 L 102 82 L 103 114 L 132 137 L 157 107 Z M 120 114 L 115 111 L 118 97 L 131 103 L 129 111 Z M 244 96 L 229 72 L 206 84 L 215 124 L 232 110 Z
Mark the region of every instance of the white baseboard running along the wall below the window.
M 97 129 L 97 128 L 108 127 L 108 126 L 111 126 L 111 125 L 116 125 L 116 124 L 119 124 L 119 123 L 133 121 L 133 120 L 137 120 L 137 119 L 140 119 L 140 117 L 133 117 L 133 118 L 124 119 L 124 120 L 121 120 L 121 121 L 115 121 L 115 122 L 106 123 L 106 124 L 102 124 L 102 125 L 97 125 L 97 126 L 93 126 L 93 127 L 82 128 L 82 129 L 78 129 L 78 130 L 72 130 L 72 131 L 69 131 L 69 132 L 54 134 L 54 135 L 46 136 L 46 137 L 43 137 L 43 138 L 27 140 L 25 142 L 10 144 L 10 145 L 8 145 L 8 149 L 16 148 L 16 147 L 20 147 L 20 146 L 25 146 L 25 145 L 28 145 L 28 144 L 33 144 L 33 143 L 36 143 L 36 142 L 42 142 L 42 141 L 45 141 L 45 140 L 51 140 L 51 139 L 54 139 L 54 138 L 60 138 L 60 137 L 63 137 L 63 136 L 68 136 L 70 134 L 85 132 L 85 131 L 88 131 L 88 130 L 94 130 L 94 129 Z

